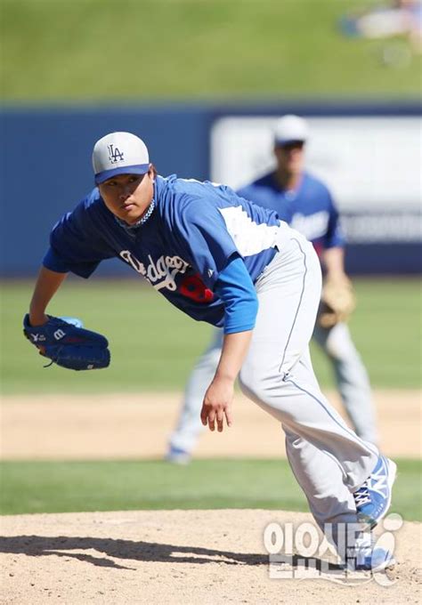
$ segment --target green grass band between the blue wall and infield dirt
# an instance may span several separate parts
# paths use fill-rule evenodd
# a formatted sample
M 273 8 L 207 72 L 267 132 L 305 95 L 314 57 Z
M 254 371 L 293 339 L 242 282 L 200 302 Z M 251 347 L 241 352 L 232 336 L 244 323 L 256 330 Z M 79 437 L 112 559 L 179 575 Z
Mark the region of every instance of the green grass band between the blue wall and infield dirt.
M 420 282 L 414 279 L 356 279 L 358 308 L 351 330 L 375 387 L 420 387 Z M 183 389 L 211 328 L 177 311 L 136 280 L 86 283 L 69 279 L 56 294 L 53 315 L 74 315 L 110 339 L 110 367 L 96 372 L 43 368 L 45 359 L 21 332 L 32 284 L 4 281 L 1 298 L 2 391 L 124 392 Z M 333 386 L 327 359 L 312 345 L 315 372 Z

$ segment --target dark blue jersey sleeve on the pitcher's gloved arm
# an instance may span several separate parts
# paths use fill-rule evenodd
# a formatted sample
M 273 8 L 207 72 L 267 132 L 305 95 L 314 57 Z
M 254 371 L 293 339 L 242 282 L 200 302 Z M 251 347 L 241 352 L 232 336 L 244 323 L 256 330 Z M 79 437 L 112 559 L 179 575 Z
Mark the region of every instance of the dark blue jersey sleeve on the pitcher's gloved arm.
M 101 242 L 83 204 L 64 214 L 50 234 L 50 247 L 43 259 L 46 269 L 89 278 L 98 264 L 114 254 Z

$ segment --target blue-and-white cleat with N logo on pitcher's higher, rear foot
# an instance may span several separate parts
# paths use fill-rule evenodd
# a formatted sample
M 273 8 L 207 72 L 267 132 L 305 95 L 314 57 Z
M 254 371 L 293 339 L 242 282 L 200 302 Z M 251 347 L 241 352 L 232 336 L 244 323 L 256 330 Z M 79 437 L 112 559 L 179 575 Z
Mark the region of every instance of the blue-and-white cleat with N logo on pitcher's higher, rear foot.
M 391 504 L 391 493 L 397 472 L 393 460 L 379 456 L 377 465 L 361 488 L 353 493 L 358 520 L 375 528 Z

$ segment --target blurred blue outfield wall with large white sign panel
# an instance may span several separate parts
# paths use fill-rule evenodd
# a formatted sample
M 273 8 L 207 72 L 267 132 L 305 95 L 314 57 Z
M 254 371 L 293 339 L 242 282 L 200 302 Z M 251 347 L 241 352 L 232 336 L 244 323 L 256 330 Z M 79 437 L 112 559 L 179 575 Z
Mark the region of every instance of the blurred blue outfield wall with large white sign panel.
M 284 113 L 310 121 L 308 163 L 343 214 L 347 269 L 420 272 L 420 106 L 289 103 L 2 109 L 1 275 L 37 271 L 51 226 L 93 187 L 91 150 L 103 134 L 139 133 L 161 174 L 236 187 L 271 165 L 271 127 Z M 118 261 L 99 273 L 132 275 Z

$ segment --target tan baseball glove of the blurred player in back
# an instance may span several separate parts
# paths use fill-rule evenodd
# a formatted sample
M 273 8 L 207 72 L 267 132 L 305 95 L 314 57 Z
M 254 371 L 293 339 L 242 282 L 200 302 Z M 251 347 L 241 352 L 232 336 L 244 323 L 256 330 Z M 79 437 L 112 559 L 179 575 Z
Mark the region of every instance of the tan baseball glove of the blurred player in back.
M 333 327 L 347 321 L 355 307 L 356 298 L 350 279 L 327 279 L 322 286 L 317 322 L 321 327 Z

